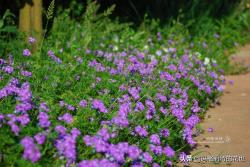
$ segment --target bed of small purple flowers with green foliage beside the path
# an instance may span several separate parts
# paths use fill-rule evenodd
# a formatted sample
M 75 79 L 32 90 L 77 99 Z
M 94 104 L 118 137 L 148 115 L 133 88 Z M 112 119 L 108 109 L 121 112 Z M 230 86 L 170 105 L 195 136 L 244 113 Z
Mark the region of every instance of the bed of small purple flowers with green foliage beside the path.
M 223 91 L 216 61 L 158 33 L 144 49 L 29 49 L 0 60 L 3 164 L 172 166 Z M 32 45 L 32 44 L 31 44 Z M 31 46 L 29 46 L 31 47 Z M 22 159 L 21 159 L 22 157 Z

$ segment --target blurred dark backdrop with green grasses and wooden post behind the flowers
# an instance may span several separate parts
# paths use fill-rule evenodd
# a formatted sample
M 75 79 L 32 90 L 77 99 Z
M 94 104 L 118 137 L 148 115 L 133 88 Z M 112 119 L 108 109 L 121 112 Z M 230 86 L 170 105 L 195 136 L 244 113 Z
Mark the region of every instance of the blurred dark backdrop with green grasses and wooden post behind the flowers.
M 124 39 L 137 34 L 142 43 L 139 39 L 160 31 L 207 43 L 215 33 L 224 34 L 221 43 L 230 48 L 248 40 L 249 7 L 249 0 L 0 0 L 0 55 L 17 48 L 25 36 L 34 36 L 37 45 L 45 39 L 54 47 L 57 42 L 49 38 L 56 38 L 65 46 L 76 31 L 84 36 L 83 48 L 110 33 Z

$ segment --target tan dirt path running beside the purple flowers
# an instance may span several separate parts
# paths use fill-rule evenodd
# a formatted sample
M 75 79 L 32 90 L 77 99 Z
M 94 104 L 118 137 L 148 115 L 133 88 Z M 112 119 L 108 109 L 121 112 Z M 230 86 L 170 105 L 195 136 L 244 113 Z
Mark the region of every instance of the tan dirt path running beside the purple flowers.
M 250 45 L 241 48 L 234 61 L 250 67 Z M 201 124 L 205 132 L 196 138 L 198 147 L 191 155 L 194 157 L 194 154 L 199 153 L 197 157 L 201 158 L 235 156 L 234 162 L 215 164 L 197 160 L 190 164 L 191 167 L 250 167 L 250 73 L 227 76 L 226 79 L 226 91 L 220 99 L 220 105 L 208 111 L 207 118 Z M 231 80 L 233 85 L 229 83 Z M 241 162 L 235 162 L 237 160 Z

